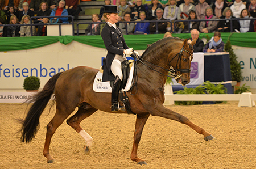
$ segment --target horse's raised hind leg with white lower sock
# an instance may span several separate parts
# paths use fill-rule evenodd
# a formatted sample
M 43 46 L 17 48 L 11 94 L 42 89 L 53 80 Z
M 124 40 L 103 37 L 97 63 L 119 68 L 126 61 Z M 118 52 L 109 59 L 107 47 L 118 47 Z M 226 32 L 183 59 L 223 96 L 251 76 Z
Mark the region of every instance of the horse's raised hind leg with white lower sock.
M 88 133 L 85 132 L 84 129 L 81 128 L 80 122 L 84 120 L 86 117 L 89 117 L 92 115 L 94 112 L 96 112 L 97 109 L 90 108 L 90 109 L 85 109 L 82 107 L 79 107 L 79 110 L 76 112 L 75 115 L 70 117 L 67 120 L 67 124 L 70 125 L 73 129 L 76 130 L 77 133 L 79 133 L 85 140 L 85 146 L 84 146 L 84 151 L 85 154 L 88 155 L 90 153 L 90 150 L 92 150 L 92 137 Z

